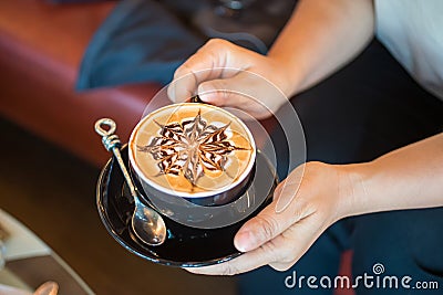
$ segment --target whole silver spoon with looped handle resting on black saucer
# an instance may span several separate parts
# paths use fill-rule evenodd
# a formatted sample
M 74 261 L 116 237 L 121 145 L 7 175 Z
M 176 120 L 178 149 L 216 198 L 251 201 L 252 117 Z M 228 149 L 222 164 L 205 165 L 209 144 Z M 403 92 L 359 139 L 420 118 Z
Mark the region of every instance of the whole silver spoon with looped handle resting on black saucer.
M 165 222 L 157 211 L 140 201 L 136 188 L 120 154 L 121 143 L 119 136 L 114 134 L 116 124 L 110 118 L 102 118 L 95 123 L 95 131 L 102 136 L 104 147 L 114 154 L 134 200 L 135 209 L 131 225 L 135 235 L 148 245 L 161 245 L 166 239 Z

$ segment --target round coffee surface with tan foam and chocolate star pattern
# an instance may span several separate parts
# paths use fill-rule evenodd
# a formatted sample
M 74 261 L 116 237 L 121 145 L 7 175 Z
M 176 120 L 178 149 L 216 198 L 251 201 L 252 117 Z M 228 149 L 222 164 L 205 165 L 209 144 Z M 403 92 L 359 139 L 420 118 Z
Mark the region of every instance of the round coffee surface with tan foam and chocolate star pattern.
M 135 127 L 134 169 L 161 190 L 188 196 L 229 189 L 250 171 L 254 138 L 230 113 L 205 104 L 159 108 Z

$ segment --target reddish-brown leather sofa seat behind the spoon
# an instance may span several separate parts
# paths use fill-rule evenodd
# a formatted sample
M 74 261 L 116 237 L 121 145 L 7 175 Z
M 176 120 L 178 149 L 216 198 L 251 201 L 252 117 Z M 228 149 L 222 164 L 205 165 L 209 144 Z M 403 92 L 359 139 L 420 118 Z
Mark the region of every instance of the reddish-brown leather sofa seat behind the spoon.
M 114 118 L 125 141 L 159 88 L 144 83 L 73 91 L 84 50 L 114 6 L 0 1 L 0 114 L 96 165 L 110 155 L 94 122 Z

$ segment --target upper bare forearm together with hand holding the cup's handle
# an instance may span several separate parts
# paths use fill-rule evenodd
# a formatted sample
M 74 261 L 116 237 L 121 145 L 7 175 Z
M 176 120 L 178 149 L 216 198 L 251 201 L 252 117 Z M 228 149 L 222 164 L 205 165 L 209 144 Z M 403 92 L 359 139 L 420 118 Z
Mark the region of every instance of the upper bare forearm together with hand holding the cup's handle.
M 371 40 L 373 27 L 371 0 L 300 0 L 268 55 L 213 39 L 176 70 L 175 81 L 188 78 L 173 83 L 168 95 L 181 102 L 200 94 L 206 103 L 267 117 L 286 103 L 286 97 L 353 59 Z M 286 97 L 270 92 L 262 80 L 244 70 L 262 76 Z M 245 93 L 259 103 L 235 93 Z

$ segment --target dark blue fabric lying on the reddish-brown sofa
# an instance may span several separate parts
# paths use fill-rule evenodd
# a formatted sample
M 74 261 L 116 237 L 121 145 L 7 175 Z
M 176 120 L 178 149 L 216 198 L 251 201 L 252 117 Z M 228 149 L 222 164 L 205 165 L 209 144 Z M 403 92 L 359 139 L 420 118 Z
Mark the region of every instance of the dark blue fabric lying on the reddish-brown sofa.
M 204 42 L 156 1 L 120 1 L 91 40 L 75 87 L 167 84 Z

